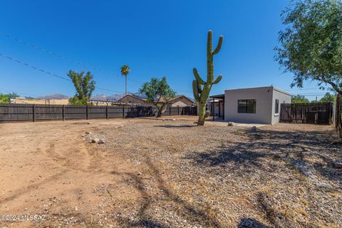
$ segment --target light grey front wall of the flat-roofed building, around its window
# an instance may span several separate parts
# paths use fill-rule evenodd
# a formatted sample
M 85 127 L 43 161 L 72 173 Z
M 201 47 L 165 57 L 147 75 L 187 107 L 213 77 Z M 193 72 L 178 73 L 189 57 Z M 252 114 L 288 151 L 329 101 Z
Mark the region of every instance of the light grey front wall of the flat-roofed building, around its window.
M 271 124 L 273 86 L 224 91 L 224 120 L 237 123 Z M 238 100 L 255 99 L 256 113 L 238 113 Z

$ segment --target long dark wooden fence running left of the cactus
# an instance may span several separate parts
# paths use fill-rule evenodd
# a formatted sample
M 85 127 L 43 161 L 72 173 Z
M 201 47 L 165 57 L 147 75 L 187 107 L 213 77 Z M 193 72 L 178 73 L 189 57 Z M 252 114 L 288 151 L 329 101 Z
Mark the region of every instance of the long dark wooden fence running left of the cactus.
M 157 114 L 145 106 L 74 106 L 0 103 L 0 123 L 6 121 L 88 120 L 97 118 L 137 118 Z M 195 107 L 167 107 L 162 115 L 197 115 Z

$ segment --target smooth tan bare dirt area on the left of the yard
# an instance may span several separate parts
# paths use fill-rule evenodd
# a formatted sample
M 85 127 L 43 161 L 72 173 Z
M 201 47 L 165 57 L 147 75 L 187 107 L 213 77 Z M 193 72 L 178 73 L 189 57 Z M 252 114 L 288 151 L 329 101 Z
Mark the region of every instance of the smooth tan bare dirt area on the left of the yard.
M 98 128 L 126 124 L 130 122 L 1 124 L 0 214 L 46 214 L 51 224 L 56 225 L 54 215 L 61 220 L 61 213 L 64 217 L 79 217 L 98 209 L 100 197 L 93 190 L 100 185 L 118 183 L 120 175 L 113 173 L 135 172 L 135 167 L 130 167 L 118 156 L 108 156 L 101 145 L 90 144 L 81 135 Z M 125 191 L 115 197 L 125 197 Z M 27 227 L 32 224 L 14 222 L 6 225 Z

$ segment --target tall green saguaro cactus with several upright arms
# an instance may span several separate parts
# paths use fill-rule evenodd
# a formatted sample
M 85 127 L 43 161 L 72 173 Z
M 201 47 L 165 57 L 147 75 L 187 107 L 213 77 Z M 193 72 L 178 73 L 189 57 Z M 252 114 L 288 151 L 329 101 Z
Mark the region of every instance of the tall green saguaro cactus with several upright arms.
M 219 83 L 222 79 L 222 75 L 219 75 L 216 80 L 214 80 L 214 55 L 219 53 L 219 50 L 222 47 L 223 36 L 219 36 L 219 43 L 214 51 L 212 51 L 212 31 L 208 31 L 208 40 L 207 40 L 207 81 L 204 81 L 197 69 L 194 68 L 194 76 L 196 80 L 192 81 L 192 90 L 194 92 L 194 98 L 199 105 L 199 115 L 198 115 L 198 123 L 197 125 L 204 125 L 205 120 L 205 105 L 207 103 L 207 99 L 209 97 L 210 90 L 212 89 L 212 85 Z

